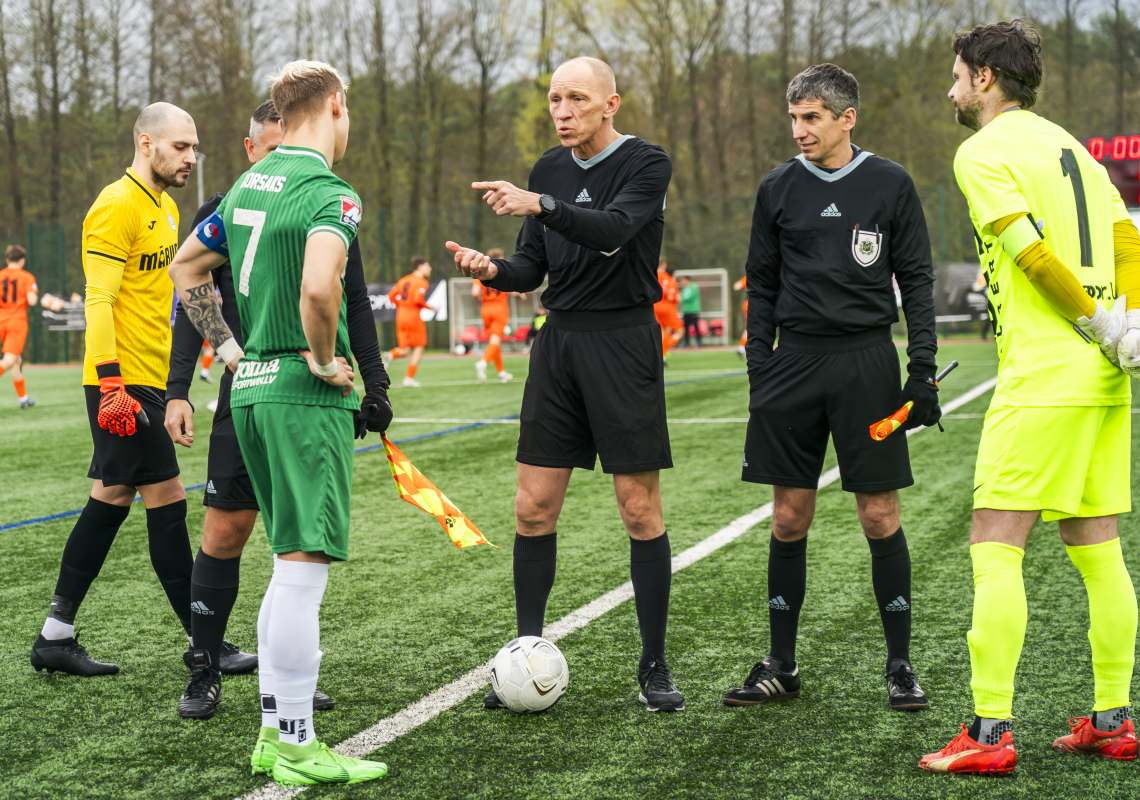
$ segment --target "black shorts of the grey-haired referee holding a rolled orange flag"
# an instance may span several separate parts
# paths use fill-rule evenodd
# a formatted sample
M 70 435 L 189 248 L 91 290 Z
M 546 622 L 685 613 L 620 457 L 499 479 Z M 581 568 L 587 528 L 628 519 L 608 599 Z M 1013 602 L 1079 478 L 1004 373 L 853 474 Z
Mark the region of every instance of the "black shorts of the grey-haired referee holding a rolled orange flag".
M 854 349 L 820 352 L 834 345 L 781 334 L 780 346 L 752 379 L 743 480 L 815 489 L 830 433 L 845 491 L 889 491 L 914 483 L 906 434 L 897 431 L 877 442 L 870 432 L 901 405 L 898 352 L 889 337 L 874 336 L 879 341 L 870 344 L 845 338 L 840 346 Z

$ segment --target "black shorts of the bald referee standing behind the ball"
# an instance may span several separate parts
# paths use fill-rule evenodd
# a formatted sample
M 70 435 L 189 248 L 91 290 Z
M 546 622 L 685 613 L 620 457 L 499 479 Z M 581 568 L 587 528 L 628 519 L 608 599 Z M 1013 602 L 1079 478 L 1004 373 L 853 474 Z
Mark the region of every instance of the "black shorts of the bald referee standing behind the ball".
M 653 310 L 626 327 L 567 329 L 597 326 L 596 319 L 583 325 L 581 317 L 588 313 L 552 311 L 535 337 L 518 460 L 593 470 L 601 457 L 609 474 L 671 468 L 661 327 Z

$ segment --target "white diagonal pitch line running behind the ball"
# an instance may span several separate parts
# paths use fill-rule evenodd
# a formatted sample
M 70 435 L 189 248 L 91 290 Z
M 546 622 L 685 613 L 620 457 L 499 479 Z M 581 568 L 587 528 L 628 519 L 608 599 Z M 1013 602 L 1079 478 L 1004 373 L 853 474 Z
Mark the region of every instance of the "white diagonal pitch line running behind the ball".
M 943 406 L 943 411 L 948 414 L 954 409 L 961 408 L 975 398 L 988 392 L 996 384 L 997 378 L 995 377 L 978 384 L 970 391 L 964 394 L 960 394 Z M 915 427 L 907 431 L 906 435 L 914 435 L 922 430 L 925 428 Z M 823 489 L 838 480 L 839 467 L 836 466 L 820 475 L 819 487 L 820 489 Z M 772 516 L 772 504 L 765 503 L 759 508 L 756 508 L 743 516 L 736 517 L 712 536 L 699 541 L 689 549 L 681 552 L 678 555 L 673 556 L 673 571 L 679 572 L 686 566 L 692 566 L 701 558 L 705 558 L 725 545 L 735 541 L 752 528 L 767 520 L 769 516 Z M 543 629 L 543 634 L 547 639 L 556 642 L 563 636 L 568 636 L 579 628 L 589 625 L 602 614 L 608 611 L 612 611 L 626 601 L 632 599 L 633 596 L 633 581 L 626 581 L 618 588 L 606 591 L 597 599 L 587 603 L 576 611 L 571 611 L 554 625 L 546 626 Z M 364 758 L 368 753 L 374 752 L 386 744 L 391 744 L 400 736 L 415 730 L 424 723 L 431 721 L 443 711 L 455 708 L 486 686 L 488 683 L 487 676 L 491 669 L 491 661 L 494 661 L 494 659 L 475 667 L 473 670 L 463 677 L 453 680 L 447 686 L 441 686 L 426 697 L 423 697 L 422 700 L 412 703 L 412 705 L 397 711 L 391 717 L 385 717 L 370 728 L 361 730 L 351 738 L 344 740 L 333 748 L 333 750 L 343 756 Z M 255 789 L 247 794 L 243 794 L 238 798 L 238 800 L 285 800 L 285 798 L 296 797 L 303 791 L 303 787 L 283 789 L 277 784 L 268 783 L 260 789 Z

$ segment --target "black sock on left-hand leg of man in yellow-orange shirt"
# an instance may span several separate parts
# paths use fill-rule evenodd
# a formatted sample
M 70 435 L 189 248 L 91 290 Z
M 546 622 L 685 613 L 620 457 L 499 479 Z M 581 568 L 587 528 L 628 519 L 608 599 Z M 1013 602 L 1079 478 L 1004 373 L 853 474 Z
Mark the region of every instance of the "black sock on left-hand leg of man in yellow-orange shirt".
M 75 622 L 80 603 L 103 569 L 103 562 L 115 544 L 115 534 L 130 513 L 130 506 L 113 506 L 93 497 L 88 498 L 64 545 L 56 597 L 51 602 L 52 619 L 67 625 Z

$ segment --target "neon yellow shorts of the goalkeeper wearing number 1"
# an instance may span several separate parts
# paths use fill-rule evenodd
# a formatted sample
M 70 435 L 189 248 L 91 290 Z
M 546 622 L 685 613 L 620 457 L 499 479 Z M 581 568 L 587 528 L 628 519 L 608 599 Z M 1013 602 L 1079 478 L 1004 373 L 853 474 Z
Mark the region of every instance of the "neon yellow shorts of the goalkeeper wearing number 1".
M 1040 511 L 1043 520 L 1132 511 L 1129 406 L 991 408 L 974 473 L 974 507 Z

